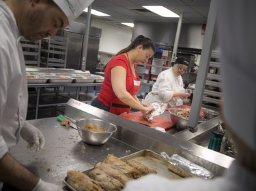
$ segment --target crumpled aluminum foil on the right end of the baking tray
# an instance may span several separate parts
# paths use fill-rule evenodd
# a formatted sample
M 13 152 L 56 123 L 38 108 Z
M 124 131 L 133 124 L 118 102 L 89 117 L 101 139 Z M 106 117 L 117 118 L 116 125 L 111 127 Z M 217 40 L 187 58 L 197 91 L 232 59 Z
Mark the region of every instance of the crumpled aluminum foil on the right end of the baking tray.
M 169 157 L 165 152 L 161 152 L 160 155 L 169 161 L 169 169 L 182 177 L 201 177 L 203 179 L 212 179 L 214 177 L 214 173 L 211 171 L 186 160 L 180 155 L 173 154 Z

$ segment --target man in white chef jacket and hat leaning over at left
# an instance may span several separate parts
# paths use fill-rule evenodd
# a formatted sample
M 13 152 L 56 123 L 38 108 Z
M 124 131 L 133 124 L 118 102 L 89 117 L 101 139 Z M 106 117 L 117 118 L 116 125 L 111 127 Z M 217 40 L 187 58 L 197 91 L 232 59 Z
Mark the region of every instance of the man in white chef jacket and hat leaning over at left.
M 61 190 L 43 181 L 8 153 L 22 137 L 28 147 L 44 147 L 44 136 L 26 121 L 27 73 L 20 37 L 53 37 L 94 0 L 0 0 L 0 190 Z

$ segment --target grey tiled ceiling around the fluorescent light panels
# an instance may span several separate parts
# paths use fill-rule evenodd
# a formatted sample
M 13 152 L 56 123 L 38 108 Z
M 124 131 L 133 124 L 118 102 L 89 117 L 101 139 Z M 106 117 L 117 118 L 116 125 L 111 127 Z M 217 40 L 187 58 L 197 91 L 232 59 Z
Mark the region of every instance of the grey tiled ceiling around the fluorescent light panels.
M 152 12 L 142 12 L 143 5 L 162 5 L 176 14 L 184 13 L 183 23 L 206 23 L 210 0 L 95 0 L 92 8 L 111 17 L 91 15 L 102 22 L 178 22 L 178 18 L 164 18 Z M 135 10 L 137 9 L 137 10 Z M 83 14 L 86 15 L 86 14 Z M 109 21 L 108 21 L 109 20 Z M 120 25 L 122 26 L 122 24 Z M 127 27 L 124 25 L 124 27 Z

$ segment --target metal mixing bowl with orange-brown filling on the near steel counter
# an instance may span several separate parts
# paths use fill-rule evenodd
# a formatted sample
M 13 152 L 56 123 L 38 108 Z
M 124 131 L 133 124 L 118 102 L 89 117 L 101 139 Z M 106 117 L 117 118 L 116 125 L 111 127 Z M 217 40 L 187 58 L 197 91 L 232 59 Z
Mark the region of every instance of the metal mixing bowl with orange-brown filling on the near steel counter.
M 104 133 L 94 132 L 86 130 L 86 125 L 96 125 L 98 128 L 104 129 Z M 79 131 L 80 137 L 85 141 L 85 143 L 89 143 L 91 145 L 102 145 L 106 143 L 107 140 L 111 137 L 111 135 L 117 131 L 117 127 L 115 124 L 111 124 L 104 120 L 99 119 L 81 119 L 76 121 L 77 131 Z

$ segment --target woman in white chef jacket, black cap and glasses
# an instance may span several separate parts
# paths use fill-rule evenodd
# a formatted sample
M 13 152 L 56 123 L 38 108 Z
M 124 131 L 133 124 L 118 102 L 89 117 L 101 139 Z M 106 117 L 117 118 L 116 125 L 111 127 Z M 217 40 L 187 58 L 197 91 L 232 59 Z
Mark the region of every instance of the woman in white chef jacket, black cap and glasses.
M 171 107 L 190 103 L 188 97 L 192 91 L 185 91 L 182 80 L 187 68 L 188 60 L 183 56 L 177 57 L 173 67 L 159 73 L 143 103 L 169 103 Z

